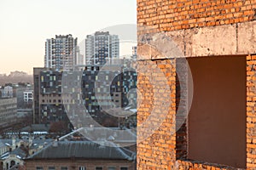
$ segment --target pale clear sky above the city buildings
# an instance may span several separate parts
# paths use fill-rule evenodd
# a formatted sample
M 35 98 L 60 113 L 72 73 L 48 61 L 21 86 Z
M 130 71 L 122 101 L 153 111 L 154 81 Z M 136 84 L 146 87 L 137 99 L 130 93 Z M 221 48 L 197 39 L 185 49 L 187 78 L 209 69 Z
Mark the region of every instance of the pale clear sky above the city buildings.
M 0 0 L 0 73 L 44 66 L 44 42 L 56 34 L 87 34 L 136 24 L 136 0 Z

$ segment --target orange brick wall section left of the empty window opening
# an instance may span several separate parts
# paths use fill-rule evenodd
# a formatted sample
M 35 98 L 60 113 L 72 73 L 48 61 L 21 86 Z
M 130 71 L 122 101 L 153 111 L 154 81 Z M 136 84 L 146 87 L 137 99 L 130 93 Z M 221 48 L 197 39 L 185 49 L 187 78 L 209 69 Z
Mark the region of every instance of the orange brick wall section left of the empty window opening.
M 141 107 L 139 107 L 139 114 L 137 115 L 138 126 L 141 126 L 148 116 L 152 115 L 153 105 L 157 107 L 157 113 L 159 116 L 163 116 L 161 112 L 168 111 L 166 119 L 164 122 L 160 122 L 158 117 L 154 118 L 151 123 L 161 124 L 159 129 L 155 131 L 148 139 L 140 139 L 144 133 L 148 133 L 148 128 L 140 129 L 138 128 L 137 136 L 138 139 L 143 140 L 137 145 L 137 162 L 139 166 L 137 169 L 174 169 L 175 160 L 175 63 L 171 64 L 170 60 L 155 60 L 154 62 L 139 61 L 138 65 L 146 65 L 148 72 L 143 74 L 139 73 L 137 88 L 140 90 L 142 96 L 144 97 Z M 171 100 L 171 105 L 166 108 L 162 104 L 162 100 L 158 100 L 155 96 L 165 97 L 168 94 L 165 90 L 153 88 L 154 81 L 150 81 L 156 70 L 160 69 L 166 76 L 168 81 L 168 86 L 172 90 L 172 96 L 166 96 L 166 99 Z M 138 68 L 140 70 L 140 68 Z M 165 81 L 158 79 L 157 83 L 161 84 Z M 157 94 L 154 94 L 157 93 Z M 156 103 L 154 103 L 156 101 Z M 174 135 L 173 135 L 174 134 Z

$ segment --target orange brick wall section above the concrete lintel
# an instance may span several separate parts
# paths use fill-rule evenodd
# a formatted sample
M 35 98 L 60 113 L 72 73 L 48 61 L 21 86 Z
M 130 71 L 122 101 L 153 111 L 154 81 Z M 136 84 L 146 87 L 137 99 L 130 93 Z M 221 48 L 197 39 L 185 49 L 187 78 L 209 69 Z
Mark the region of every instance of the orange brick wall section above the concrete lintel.
M 138 26 L 173 31 L 255 19 L 255 0 L 137 0 Z

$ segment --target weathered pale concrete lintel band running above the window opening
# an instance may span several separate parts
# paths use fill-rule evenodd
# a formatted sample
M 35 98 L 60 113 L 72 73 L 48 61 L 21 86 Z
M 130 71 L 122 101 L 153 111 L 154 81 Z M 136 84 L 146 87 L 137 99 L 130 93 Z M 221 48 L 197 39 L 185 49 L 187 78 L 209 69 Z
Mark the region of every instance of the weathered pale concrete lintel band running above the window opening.
M 138 59 L 255 54 L 256 21 L 161 32 L 149 39 L 150 48 L 138 47 Z

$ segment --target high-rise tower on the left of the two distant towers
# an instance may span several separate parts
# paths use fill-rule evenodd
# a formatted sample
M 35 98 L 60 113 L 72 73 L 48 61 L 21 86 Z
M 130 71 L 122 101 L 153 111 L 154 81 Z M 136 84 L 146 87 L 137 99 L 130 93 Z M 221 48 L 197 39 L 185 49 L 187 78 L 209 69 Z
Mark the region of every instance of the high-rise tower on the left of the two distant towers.
M 55 70 L 73 70 L 78 54 L 78 38 L 55 36 L 45 42 L 44 67 Z

